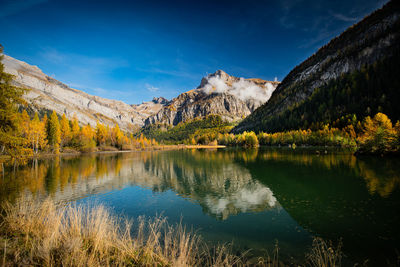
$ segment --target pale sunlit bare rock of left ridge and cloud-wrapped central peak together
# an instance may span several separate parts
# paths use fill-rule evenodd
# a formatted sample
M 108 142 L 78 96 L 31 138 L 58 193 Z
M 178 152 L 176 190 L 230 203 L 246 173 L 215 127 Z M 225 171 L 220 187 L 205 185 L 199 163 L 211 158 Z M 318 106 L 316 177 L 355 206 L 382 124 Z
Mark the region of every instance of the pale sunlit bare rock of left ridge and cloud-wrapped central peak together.
M 74 116 L 83 124 L 119 124 L 131 131 L 145 124 L 176 125 L 207 115 L 220 115 L 228 121 L 241 120 L 266 102 L 279 82 L 243 79 L 217 71 L 204 77 L 198 88 L 180 94 L 171 101 L 163 97 L 138 105 L 89 95 L 68 87 L 44 74 L 37 66 L 4 55 L 5 71 L 13 74 L 14 84 L 30 89 L 25 94 L 33 111 L 55 110 Z

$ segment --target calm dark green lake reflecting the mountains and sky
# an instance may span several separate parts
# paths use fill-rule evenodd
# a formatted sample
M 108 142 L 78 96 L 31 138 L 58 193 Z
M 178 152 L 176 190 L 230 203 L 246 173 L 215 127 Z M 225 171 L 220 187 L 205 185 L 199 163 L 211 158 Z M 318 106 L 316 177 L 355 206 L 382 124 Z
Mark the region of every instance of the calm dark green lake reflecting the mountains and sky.
M 209 242 L 301 263 L 312 238 L 342 240 L 345 264 L 396 263 L 398 159 L 312 150 L 180 150 L 43 159 L 6 168 L 0 201 L 21 194 L 97 202 L 135 218 L 162 214 Z

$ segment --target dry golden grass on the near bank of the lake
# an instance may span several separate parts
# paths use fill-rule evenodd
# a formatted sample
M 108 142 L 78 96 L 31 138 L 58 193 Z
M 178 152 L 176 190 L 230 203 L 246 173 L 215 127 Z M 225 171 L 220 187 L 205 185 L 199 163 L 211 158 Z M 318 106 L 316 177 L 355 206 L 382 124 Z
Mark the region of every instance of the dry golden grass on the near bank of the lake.
M 133 234 L 132 234 L 133 233 Z M 283 266 L 272 258 L 246 260 L 227 246 L 208 247 L 201 238 L 165 218 L 117 218 L 101 205 L 57 205 L 23 198 L 3 206 L 2 266 Z M 315 239 L 310 266 L 339 266 L 338 250 Z

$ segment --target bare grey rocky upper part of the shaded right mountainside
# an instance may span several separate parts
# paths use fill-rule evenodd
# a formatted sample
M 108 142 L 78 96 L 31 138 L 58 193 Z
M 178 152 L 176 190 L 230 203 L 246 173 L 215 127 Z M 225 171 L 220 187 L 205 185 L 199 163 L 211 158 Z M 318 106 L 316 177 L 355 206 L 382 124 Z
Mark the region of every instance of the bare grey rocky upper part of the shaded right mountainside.
M 399 6 L 398 1 L 389 2 L 296 66 L 277 87 L 268 103 L 243 120 L 234 131 L 269 131 L 270 118 L 308 101 L 316 88 L 398 53 Z

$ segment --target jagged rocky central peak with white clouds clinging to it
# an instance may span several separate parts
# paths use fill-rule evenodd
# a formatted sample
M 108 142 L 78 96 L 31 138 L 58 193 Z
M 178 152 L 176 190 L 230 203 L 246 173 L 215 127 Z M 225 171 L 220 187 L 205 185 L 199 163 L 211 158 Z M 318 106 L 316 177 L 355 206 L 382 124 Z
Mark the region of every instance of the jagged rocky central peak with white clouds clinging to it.
M 180 94 L 145 124 L 177 125 L 197 117 L 220 115 L 224 120 L 241 120 L 268 101 L 279 82 L 243 79 L 222 70 L 204 77 L 200 85 Z

